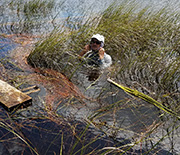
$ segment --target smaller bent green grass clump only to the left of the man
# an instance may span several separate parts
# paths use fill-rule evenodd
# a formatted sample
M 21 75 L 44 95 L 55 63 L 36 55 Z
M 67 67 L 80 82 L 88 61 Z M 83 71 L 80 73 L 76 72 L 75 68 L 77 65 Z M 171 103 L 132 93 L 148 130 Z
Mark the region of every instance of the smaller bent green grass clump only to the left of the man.
M 98 18 L 93 18 L 97 20 Z M 92 19 L 81 26 L 80 29 L 74 30 L 76 22 L 68 18 L 59 29 L 55 29 L 45 39 L 36 44 L 34 51 L 28 57 L 28 62 L 34 67 L 45 67 L 58 70 L 67 77 L 82 66 L 78 60 L 78 54 L 83 49 L 84 43 L 89 43 L 92 30 L 87 27 Z M 79 20 L 78 25 L 82 20 Z M 74 25 L 74 26 L 73 26 Z M 94 25 L 91 25 L 94 27 Z

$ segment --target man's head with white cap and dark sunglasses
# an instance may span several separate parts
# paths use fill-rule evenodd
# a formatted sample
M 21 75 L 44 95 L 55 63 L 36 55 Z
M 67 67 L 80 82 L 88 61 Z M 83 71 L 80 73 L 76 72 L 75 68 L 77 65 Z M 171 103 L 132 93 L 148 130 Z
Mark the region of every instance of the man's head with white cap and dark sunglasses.
M 95 34 L 91 37 L 91 42 L 90 42 L 92 50 L 99 50 L 100 47 L 104 46 L 104 36 L 100 34 Z

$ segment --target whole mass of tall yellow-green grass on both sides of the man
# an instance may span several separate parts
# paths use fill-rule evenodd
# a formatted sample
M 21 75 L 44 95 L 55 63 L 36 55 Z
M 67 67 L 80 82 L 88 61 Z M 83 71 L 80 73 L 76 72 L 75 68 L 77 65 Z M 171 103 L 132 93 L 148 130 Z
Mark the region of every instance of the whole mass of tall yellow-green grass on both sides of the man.
M 77 54 L 93 33 L 101 33 L 106 38 L 105 49 L 114 60 L 112 77 L 155 99 L 163 100 L 165 94 L 176 99 L 180 78 L 178 22 L 178 14 L 168 7 L 137 11 L 134 3 L 112 4 L 102 14 L 83 22 L 68 18 L 36 46 L 28 60 L 34 66 L 59 71 L 64 70 L 64 64 L 77 68 Z M 76 25 L 81 26 L 74 29 Z

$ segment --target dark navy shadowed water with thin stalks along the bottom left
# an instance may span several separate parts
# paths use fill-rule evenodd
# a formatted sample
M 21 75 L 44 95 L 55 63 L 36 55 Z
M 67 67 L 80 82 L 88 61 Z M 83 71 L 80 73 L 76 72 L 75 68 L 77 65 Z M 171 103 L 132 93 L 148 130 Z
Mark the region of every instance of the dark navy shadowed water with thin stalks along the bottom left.
M 58 119 L 54 122 L 50 119 L 18 119 L 12 121 L 9 114 L 2 108 L 0 127 L 0 154 L 101 154 L 106 148 L 121 148 L 131 143 L 128 138 L 119 137 L 114 140 L 101 130 L 83 123 Z M 13 117 L 12 117 L 13 118 Z M 6 119 L 6 121 L 2 121 Z M 2 126 L 4 124 L 4 126 Z M 26 143 L 26 145 L 25 145 Z M 28 145 L 27 145 L 28 144 Z M 145 153 L 144 149 L 132 149 L 127 145 L 127 155 Z M 123 150 L 124 150 L 123 149 Z M 123 151 L 122 150 L 122 151 Z M 158 153 L 156 152 L 158 151 Z M 120 151 L 121 152 L 121 151 Z M 122 153 L 122 152 L 121 152 Z M 168 154 L 161 149 L 153 150 L 151 154 Z M 119 153 L 108 153 L 119 154 Z

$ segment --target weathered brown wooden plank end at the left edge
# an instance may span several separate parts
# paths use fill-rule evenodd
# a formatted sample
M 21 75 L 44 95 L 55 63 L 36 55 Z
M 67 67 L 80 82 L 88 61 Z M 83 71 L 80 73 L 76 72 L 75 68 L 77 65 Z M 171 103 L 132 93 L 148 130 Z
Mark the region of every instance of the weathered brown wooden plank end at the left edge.
M 30 96 L 0 80 L 0 102 L 8 109 L 31 100 Z

